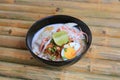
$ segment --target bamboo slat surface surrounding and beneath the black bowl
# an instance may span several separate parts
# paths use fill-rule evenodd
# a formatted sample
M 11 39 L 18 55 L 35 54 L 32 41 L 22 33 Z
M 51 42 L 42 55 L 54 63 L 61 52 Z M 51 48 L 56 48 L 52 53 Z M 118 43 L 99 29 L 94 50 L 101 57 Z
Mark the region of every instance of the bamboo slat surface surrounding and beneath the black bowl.
M 36 61 L 25 45 L 38 19 L 66 14 L 84 21 L 93 41 L 66 68 Z M 0 0 L 0 80 L 120 80 L 120 0 Z

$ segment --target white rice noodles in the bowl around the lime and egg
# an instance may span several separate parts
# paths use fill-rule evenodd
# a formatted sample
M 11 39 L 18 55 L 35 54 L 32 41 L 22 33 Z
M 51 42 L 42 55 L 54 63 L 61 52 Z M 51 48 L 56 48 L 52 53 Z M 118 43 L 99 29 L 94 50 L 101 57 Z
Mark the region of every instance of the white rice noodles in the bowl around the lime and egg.
M 85 36 L 87 36 L 86 33 L 82 32 L 82 30 L 75 28 L 74 26 L 77 26 L 76 23 L 66 23 L 66 24 L 52 24 L 52 25 L 48 25 L 46 27 L 54 27 L 53 30 L 51 31 L 45 31 L 45 28 L 41 29 L 40 31 L 38 31 L 35 34 L 35 38 L 33 38 L 32 41 L 32 50 L 33 52 L 38 55 L 39 57 L 46 59 L 46 60 L 50 60 L 51 59 L 51 55 L 49 54 L 44 54 L 44 50 L 46 49 L 47 45 L 50 43 L 51 39 L 52 39 L 52 34 L 55 33 L 58 29 L 60 30 L 64 30 L 68 33 L 68 36 L 73 39 L 74 42 L 80 43 L 80 50 L 78 51 L 78 55 L 80 55 L 82 53 L 82 51 L 84 51 L 84 47 L 85 47 L 85 43 L 84 41 L 82 41 L 82 39 L 85 39 Z M 42 43 L 42 40 L 45 38 L 49 38 L 48 41 L 45 42 L 43 49 L 40 51 L 39 47 L 40 44 Z M 62 59 L 57 59 L 55 61 L 62 61 Z

